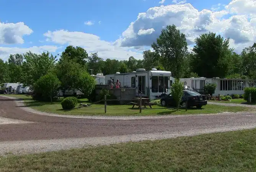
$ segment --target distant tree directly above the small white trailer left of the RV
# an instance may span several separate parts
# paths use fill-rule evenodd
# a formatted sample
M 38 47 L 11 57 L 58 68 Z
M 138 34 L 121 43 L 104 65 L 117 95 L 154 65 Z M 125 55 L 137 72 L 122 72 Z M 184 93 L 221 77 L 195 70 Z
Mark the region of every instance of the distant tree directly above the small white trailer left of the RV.
M 88 59 L 88 69 L 93 69 L 94 74 L 102 73 L 104 68 L 103 58 L 98 57 L 98 53 L 92 53 Z

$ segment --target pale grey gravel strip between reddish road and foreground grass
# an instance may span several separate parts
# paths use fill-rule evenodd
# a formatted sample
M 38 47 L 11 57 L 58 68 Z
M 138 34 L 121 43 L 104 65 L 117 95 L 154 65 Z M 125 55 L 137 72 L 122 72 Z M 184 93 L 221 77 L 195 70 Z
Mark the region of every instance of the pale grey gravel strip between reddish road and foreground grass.
M 129 141 L 143 141 L 176 138 L 179 136 L 194 136 L 205 133 L 215 133 L 224 131 L 235 131 L 242 129 L 255 128 L 255 125 L 245 125 L 236 127 L 221 127 L 203 130 L 176 131 L 150 134 L 134 134 L 125 136 L 108 136 L 108 137 L 90 137 L 74 139 L 54 139 L 54 140 L 30 140 L 30 141 L 7 141 L 0 142 L 0 155 L 7 154 L 28 154 L 40 153 L 58 150 L 67 150 L 71 148 L 86 148 L 87 146 L 100 146 L 115 143 L 125 143 Z

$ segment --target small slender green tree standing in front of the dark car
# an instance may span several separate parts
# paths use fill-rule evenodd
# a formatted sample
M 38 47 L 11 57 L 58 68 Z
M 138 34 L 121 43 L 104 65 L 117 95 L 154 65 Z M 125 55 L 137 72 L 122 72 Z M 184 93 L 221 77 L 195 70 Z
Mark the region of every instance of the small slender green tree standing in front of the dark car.
M 176 102 L 177 109 L 179 109 L 179 104 L 183 95 L 183 89 L 184 84 L 180 82 L 179 78 L 175 78 L 175 81 L 171 87 L 171 95 Z

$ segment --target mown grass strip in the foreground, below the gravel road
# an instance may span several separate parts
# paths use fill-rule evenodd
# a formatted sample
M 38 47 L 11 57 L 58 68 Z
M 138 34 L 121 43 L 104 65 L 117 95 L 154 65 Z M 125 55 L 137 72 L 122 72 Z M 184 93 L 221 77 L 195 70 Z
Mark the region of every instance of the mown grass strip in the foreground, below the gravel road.
M 0 157 L 0 171 L 256 171 L 256 129 Z

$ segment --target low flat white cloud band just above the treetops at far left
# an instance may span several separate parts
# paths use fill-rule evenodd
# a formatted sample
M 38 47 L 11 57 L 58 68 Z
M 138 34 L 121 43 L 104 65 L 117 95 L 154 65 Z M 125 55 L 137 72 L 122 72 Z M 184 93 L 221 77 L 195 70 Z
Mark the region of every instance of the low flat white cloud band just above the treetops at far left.
M 23 54 L 28 51 L 31 51 L 33 53 L 43 53 L 43 52 L 56 52 L 57 49 L 61 47 L 52 46 L 52 45 L 44 45 L 44 46 L 33 46 L 29 48 L 18 48 L 18 47 L 0 47 L 0 58 L 2 58 L 4 61 L 7 60 L 10 56 L 10 54 Z

